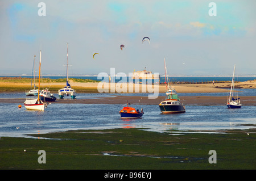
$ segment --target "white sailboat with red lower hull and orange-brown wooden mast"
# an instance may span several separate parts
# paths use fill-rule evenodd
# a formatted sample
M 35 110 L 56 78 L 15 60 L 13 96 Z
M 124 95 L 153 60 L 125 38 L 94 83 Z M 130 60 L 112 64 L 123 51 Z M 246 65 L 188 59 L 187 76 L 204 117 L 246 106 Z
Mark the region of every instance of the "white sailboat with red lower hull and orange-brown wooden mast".
M 41 50 L 40 50 L 40 61 L 39 61 L 39 83 L 38 83 L 38 91 L 40 90 L 40 69 L 41 69 Z M 42 102 L 39 98 L 37 99 L 27 99 L 24 102 L 24 107 L 27 110 L 35 110 L 35 111 L 44 111 L 44 109 L 47 107 L 47 103 Z

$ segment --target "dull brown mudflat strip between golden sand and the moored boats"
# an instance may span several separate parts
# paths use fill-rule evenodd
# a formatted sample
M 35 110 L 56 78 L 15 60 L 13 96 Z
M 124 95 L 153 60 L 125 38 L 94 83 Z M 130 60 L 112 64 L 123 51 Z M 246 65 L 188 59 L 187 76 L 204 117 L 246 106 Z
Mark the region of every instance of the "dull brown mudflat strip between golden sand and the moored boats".
M 113 95 L 105 98 L 92 99 L 56 99 L 52 104 L 130 104 L 158 105 L 165 96 L 148 99 L 147 96 Z M 226 106 L 226 96 L 179 96 L 180 102 L 185 106 Z M 243 106 L 256 106 L 256 96 L 240 96 Z M 2 98 L 0 103 L 23 104 L 26 98 Z M 18 107 L 18 106 L 17 106 Z

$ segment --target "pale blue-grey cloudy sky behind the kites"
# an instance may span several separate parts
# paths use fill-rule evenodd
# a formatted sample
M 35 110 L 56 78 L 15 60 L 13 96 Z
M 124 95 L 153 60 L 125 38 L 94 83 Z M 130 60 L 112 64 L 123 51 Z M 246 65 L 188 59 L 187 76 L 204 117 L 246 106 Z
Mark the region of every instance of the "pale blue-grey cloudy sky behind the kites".
M 164 58 L 170 76 L 229 76 L 234 64 L 236 75 L 256 75 L 255 7 L 255 0 L 1 0 L 0 75 L 31 75 L 40 50 L 42 74 L 65 75 L 67 43 L 69 75 L 110 68 L 162 75 Z M 150 43 L 142 43 L 146 36 Z

